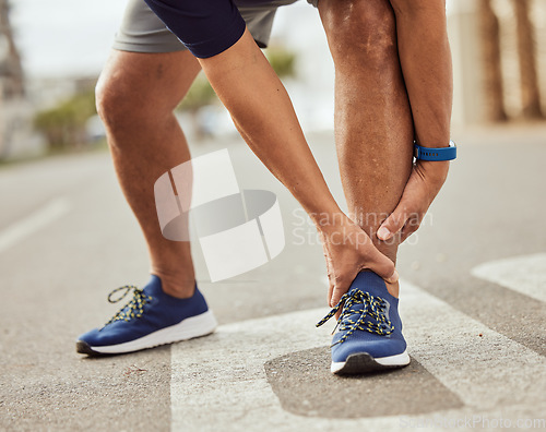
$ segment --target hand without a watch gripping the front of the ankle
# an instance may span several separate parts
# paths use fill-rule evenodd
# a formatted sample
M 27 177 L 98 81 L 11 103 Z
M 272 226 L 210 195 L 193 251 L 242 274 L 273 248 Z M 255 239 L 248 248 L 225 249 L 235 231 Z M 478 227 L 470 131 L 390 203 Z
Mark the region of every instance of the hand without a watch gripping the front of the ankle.
M 390 284 L 397 281 L 399 274 L 394 263 L 345 215 L 336 224 L 319 226 L 319 233 L 327 260 L 328 303 L 331 308 L 337 304 L 355 277 L 364 269 L 377 273 Z

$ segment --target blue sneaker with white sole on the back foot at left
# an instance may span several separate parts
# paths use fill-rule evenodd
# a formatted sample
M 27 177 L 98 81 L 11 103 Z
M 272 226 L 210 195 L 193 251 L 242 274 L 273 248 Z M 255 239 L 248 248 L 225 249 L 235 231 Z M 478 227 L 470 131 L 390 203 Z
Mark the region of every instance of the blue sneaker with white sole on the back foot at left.
M 126 291 L 119 299 L 111 300 L 120 290 Z M 117 288 L 108 301 L 116 303 L 131 290 L 132 300 L 103 328 L 94 328 L 78 338 L 78 352 L 93 356 L 139 351 L 209 335 L 216 328 L 216 320 L 197 286 L 193 297 L 177 299 L 163 292 L 162 280 L 152 275 L 144 289 Z

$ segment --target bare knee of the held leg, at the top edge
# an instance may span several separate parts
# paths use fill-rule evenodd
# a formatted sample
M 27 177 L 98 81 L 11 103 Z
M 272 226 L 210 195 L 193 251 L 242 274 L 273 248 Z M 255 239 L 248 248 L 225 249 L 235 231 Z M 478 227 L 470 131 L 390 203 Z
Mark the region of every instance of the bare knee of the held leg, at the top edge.
M 397 56 L 394 12 L 384 0 L 334 0 L 323 23 L 336 68 L 377 68 Z

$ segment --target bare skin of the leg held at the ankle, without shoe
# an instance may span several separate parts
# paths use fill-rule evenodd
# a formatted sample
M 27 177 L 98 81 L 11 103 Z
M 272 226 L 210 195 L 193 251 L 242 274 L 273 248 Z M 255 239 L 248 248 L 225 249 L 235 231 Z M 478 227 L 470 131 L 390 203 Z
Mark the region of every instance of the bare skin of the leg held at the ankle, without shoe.
M 412 170 L 413 123 L 388 0 L 321 0 L 335 64 L 335 142 L 351 217 L 393 262 L 399 239 L 376 231 Z M 388 286 L 397 297 L 399 286 Z

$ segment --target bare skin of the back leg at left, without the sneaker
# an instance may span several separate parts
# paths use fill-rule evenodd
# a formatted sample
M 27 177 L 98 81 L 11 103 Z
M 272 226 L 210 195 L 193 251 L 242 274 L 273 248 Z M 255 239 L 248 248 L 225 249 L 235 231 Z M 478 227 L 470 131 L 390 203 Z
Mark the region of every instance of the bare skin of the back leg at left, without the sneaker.
M 191 53 L 114 51 L 97 85 L 116 172 L 144 232 L 152 273 L 165 292 L 193 293 L 189 242 L 166 240 L 154 206 L 154 183 L 170 168 L 190 159 L 188 144 L 173 110 L 183 98 L 199 63 Z

